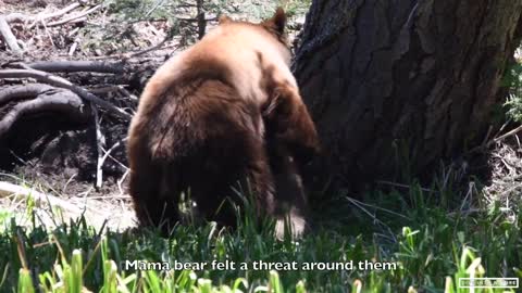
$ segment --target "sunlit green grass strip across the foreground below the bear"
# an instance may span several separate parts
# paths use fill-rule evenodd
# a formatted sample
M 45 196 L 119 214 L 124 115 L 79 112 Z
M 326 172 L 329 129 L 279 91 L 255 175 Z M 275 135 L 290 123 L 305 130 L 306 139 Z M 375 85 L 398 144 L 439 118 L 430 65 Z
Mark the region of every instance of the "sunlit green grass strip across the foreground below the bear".
M 83 218 L 49 230 L 37 219 L 22 229 L 2 217 L 0 292 L 469 292 L 457 288 L 459 278 L 522 278 L 522 208 L 508 213 L 494 205 L 469 213 L 457 194 L 446 194 L 453 202 L 442 204 L 440 193 L 413 186 L 360 202 L 345 195 L 315 200 L 312 206 L 321 213 L 313 214 L 313 231 L 297 242 L 275 240 L 273 222 L 256 229 L 251 213 L 234 231 L 213 224 L 178 226 L 169 239 L 151 230 L 101 232 Z M 207 268 L 125 270 L 126 259 Z M 235 269 L 212 269 L 213 260 L 234 262 Z M 253 270 L 259 260 L 295 262 L 298 269 Z M 355 269 L 302 267 L 350 260 Z M 358 263 L 364 260 L 396 269 L 361 270 Z

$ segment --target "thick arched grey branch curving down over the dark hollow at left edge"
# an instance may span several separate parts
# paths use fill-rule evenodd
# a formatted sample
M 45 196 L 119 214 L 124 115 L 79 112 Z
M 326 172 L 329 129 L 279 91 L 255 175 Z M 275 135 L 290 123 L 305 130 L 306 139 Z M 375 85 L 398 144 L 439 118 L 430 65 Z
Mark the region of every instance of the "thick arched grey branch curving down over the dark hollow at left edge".
M 22 116 L 41 112 L 63 113 L 77 122 L 85 122 L 89 117 L 84 101 L 76 93 L 64 89 L 49 89 L 38 94 L 36 99 L 13 106 L 0 119 L 0 138 L 8 133 L 13 124 Z

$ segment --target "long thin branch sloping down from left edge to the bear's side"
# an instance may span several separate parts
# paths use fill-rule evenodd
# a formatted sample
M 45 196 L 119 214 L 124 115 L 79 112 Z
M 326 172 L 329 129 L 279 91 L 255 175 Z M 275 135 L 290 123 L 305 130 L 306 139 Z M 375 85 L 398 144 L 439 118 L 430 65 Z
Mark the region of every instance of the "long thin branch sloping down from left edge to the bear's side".
M 132 115 L 123 111 L 122 109 L 98 98 L 97 95 L 88 92 L 84 88 L 73 85 L 65 78 L 48 74 L 46 72 L 36 69 L 4 69 L 0 71 L 0 78 L 34 78 L 38 81 L 46 82 L 55 87 L 69 89 L 72 92 L 78 94 L 83 99 L 99 105 L 102 109 L 108 110 L 110 113 L 125 119 L 130 120 Z

